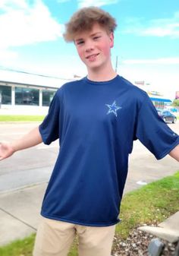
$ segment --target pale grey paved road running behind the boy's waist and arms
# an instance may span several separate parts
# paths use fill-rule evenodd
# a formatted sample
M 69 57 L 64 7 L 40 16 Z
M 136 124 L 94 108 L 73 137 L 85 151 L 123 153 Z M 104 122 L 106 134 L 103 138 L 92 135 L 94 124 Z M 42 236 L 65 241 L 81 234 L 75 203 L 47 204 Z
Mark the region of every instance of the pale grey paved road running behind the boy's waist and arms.
M 39 123 L 1 123 L 0 141 L 17 139 L 36 125 Z M 179 122 L 169 126 L 179 134 Z M 50 146 L 39 144 L 36 147 L 19 151 L 11 158 L 0 162 L 0 193 L 47 182 L 57 154 L 58 141 L 55 141 Z M 157 161 L 149 150 L 146 150 L 139 141 L 135 141 L 133 153 L 130 156 L 129 175 L 125 189 L 126 191 L 133 190 L 145 182 L 152 182 L 165 175 L 173 174 L 177 169 L 179 169 L 178 163 L 170 156 Z

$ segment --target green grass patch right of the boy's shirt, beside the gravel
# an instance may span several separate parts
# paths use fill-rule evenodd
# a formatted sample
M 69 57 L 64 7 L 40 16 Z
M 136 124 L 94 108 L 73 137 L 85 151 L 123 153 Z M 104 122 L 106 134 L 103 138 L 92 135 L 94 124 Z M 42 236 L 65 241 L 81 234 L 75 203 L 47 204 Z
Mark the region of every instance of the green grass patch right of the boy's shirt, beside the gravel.
M 179 172 L 126 194 L 121 204 L 121 223 L 116 232 L 123 239 L 144 223 L 160 223 L 179 210 Z

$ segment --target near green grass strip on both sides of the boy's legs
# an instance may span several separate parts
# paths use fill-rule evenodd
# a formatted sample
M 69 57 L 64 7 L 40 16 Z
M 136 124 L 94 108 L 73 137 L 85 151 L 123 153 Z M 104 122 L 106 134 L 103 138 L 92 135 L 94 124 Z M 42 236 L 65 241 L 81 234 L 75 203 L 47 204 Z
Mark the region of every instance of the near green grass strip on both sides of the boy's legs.
M 126 239 L 130 230 L 143 223 L 160 223 L 179 210 L 179 172 L 124 195 L 121 223 L 116 233 Z M 35 235 L 0 248 L 1 256 L 32 256 Z M 77 256 L 77 242 L 68 256 Z

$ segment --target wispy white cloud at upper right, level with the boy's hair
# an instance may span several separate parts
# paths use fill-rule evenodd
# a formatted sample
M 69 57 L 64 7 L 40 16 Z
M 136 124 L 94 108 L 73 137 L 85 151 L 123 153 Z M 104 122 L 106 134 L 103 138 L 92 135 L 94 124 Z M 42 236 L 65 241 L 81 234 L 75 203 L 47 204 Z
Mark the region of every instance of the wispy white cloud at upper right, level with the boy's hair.
M 144 27 L 146 22 L 143 18 L 135 19 L 128 18 L 128 27 L 124 33 L 134 33 L 138 36 L 171 36 L 172 38 L 179 37 L 179 11 L 174 13 L 171 18 L 154 19 L 149 21 Z M 131 24 L 131 25 L 130 25 Z

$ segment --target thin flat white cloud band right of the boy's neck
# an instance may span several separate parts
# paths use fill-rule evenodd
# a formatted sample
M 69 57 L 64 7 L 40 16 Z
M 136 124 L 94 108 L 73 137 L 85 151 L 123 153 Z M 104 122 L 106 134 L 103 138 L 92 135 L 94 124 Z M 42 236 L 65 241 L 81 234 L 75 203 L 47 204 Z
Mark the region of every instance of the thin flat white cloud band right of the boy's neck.
M 155 59 L 127 59 L 124 64 L 162 64 L 162 65 L 176 65 L 179 64 L 179 57 L 177 58 L 155 58 Z

